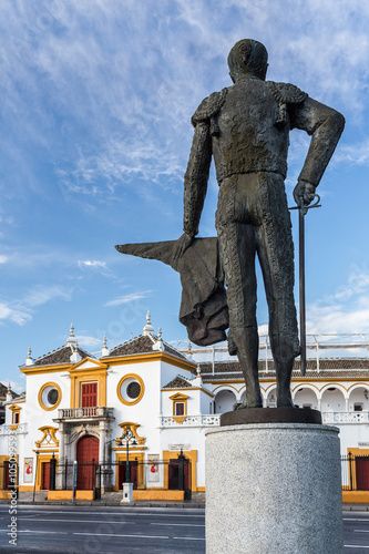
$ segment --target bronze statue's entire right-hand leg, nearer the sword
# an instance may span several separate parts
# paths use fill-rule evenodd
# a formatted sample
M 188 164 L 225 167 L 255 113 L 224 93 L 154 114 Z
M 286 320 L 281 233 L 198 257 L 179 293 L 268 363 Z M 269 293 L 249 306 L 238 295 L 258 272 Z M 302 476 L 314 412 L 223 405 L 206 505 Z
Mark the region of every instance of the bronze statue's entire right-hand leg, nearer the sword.
M 293 407 L 290 379 L 299 348 L 294 298 L 294 243 L 283 178 L 262 175 L 260 197 L 263 225 L 257 229 L 256 240 L 269 308 L 277 406 Z

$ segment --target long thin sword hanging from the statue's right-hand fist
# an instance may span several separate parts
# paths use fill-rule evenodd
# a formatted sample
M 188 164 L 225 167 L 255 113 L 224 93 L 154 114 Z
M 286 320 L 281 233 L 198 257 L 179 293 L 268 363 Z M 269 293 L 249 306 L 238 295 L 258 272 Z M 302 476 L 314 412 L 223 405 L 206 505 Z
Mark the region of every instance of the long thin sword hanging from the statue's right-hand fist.
M 314 195 L 317 201 L 309 206 L 306 206 L 300 201 L 298 206 L 289 209 L 298 209 L 298 274 L 299 274 L 299 300 L 300 300 L 300 370 L 301 375 L 306 373 L 306 306 L 305 306 L 305 215 L 308 209 L 320 207 L 320 196 Z

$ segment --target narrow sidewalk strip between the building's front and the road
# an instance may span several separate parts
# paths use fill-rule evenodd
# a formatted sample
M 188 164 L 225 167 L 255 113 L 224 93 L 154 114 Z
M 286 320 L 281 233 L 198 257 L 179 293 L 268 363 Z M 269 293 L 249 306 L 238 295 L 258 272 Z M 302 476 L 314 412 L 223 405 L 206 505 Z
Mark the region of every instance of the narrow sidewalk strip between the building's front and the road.
M 140 507 L 205 507 L 205 493 L 204 492 L 193 492 L 192 500 L 186 500 L 184 502 L 177 501 L 141 501 L 131 502 L 130 504 L 121 504 L 123 497 L 123 492 L 105 492 L 101 500 L 85 501 L 80 500 L 75 502 L 79 506 L 140 506 Z M 39 505 L 72 505 L 71 501 L 48 501 L 48 491 L 38 491 L 34 495 L 34 503 Z M 8 504 L 8 500 L 0 500 L 0 504 Z M 33 503 L 33 492 L 20 492 L 18 497 L 18 504 L 32 504 Z

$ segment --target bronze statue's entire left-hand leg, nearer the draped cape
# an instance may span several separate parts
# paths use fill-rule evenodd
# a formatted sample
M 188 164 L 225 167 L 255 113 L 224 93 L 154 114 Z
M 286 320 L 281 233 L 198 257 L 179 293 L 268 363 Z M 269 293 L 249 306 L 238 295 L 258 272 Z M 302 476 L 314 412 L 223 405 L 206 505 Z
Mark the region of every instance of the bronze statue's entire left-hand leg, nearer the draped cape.
M 227 284 L 229 330 L 246 382 L 242 408 L 262 408 L 256 322 L 255 235 L 252 225 L 218 225 L 221 258 Z

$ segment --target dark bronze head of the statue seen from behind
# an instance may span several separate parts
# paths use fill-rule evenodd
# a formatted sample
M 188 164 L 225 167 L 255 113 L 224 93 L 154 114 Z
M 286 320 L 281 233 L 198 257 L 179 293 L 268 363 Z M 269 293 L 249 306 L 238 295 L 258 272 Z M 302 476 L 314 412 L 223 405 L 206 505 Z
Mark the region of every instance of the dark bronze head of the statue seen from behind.
M 243 75 L 254 75 L 265 80 L 268 52 L 257 40 L 239 40 L 229 52 L 228 66 L 234 83 Z

